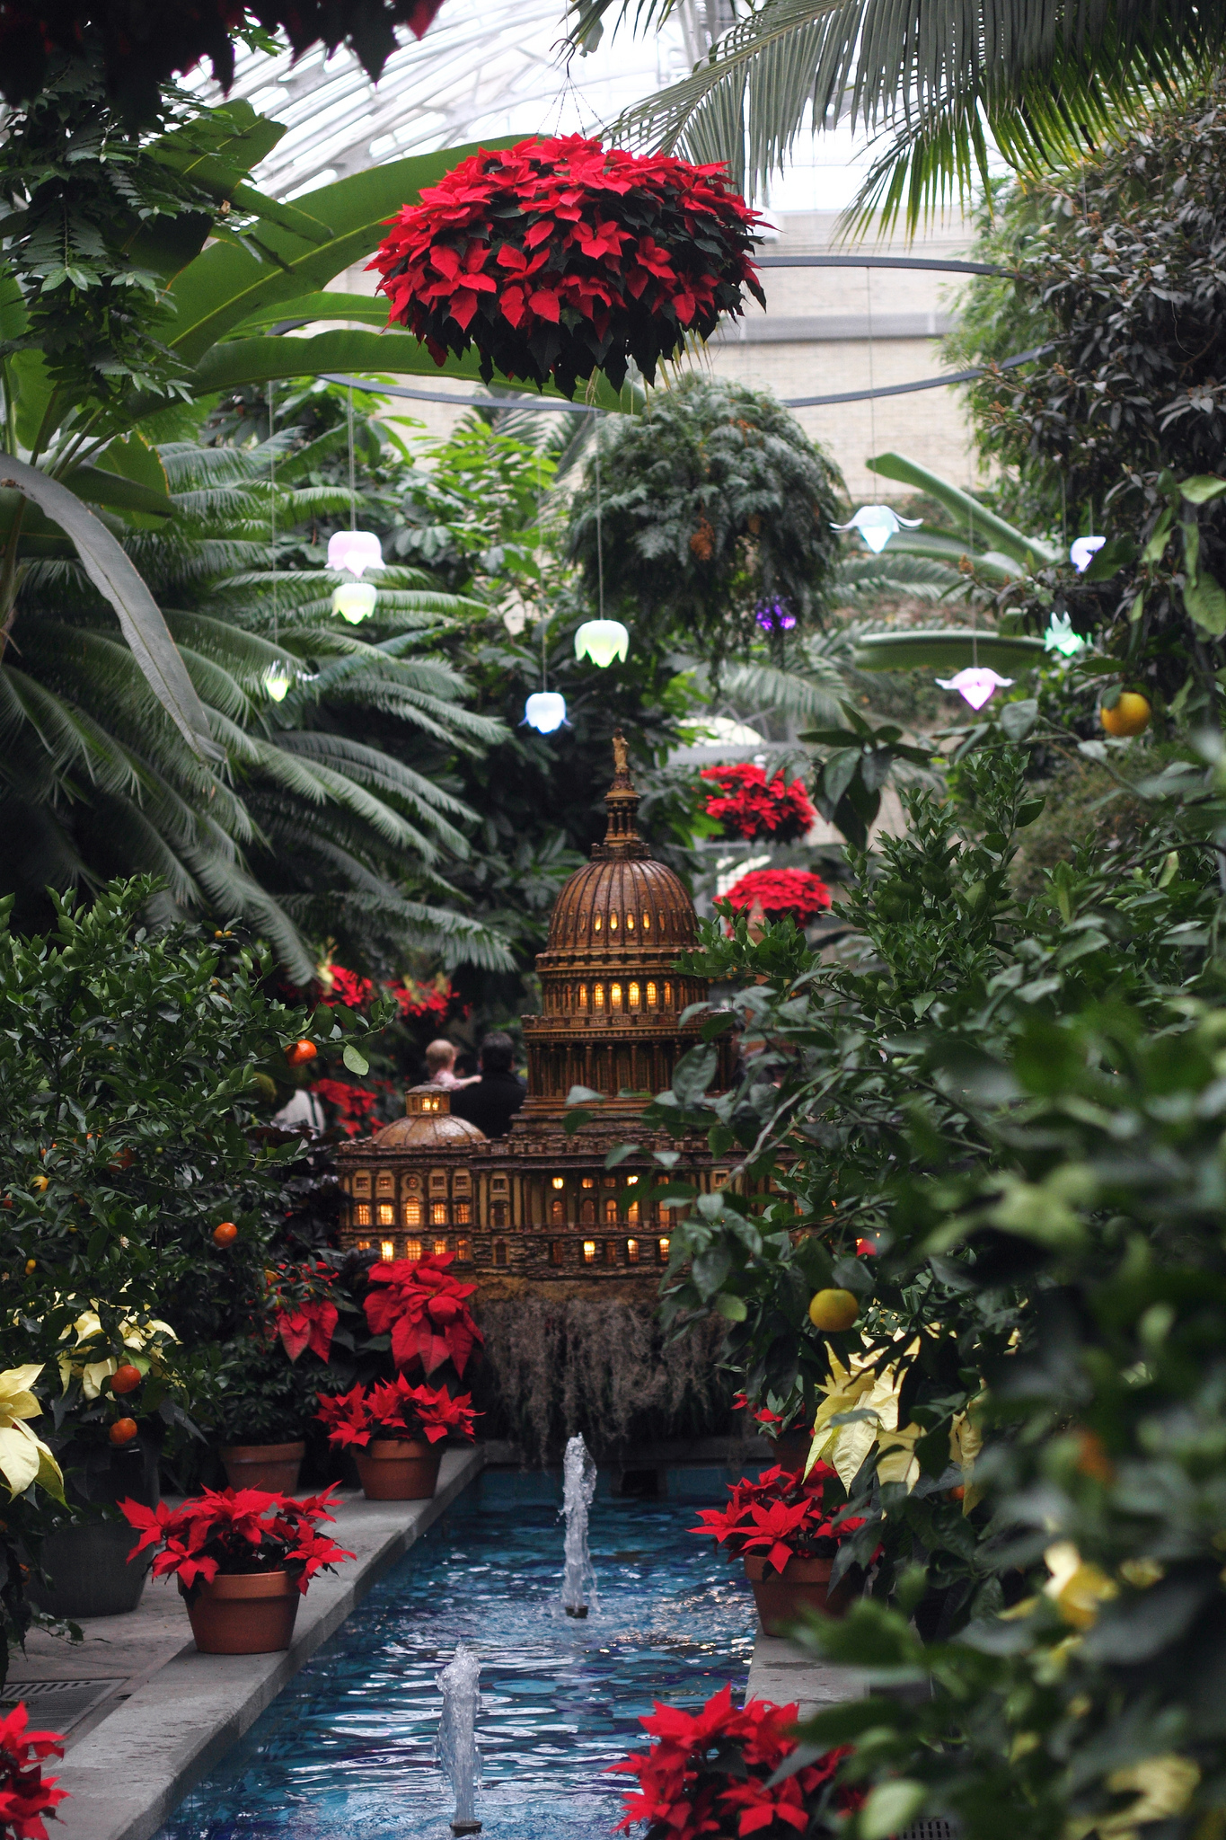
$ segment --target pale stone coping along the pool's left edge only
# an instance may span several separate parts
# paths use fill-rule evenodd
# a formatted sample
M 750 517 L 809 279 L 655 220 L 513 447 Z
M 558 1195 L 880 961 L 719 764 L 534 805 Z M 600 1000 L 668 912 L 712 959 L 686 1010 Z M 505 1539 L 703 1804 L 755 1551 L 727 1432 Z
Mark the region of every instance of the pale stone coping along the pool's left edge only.
M 182 1798 L 243 1737 L 314 1650 L 485 1466 L 485 1452 L 448 1450 L 428 1501 L 347 1496 L 336 1538 L 355 1562 L 318 1577 L 281 1654 L 199 1654 L 189 1641 L 88 1731 L 57 1772 L 64 1840 L 153 1840 Z

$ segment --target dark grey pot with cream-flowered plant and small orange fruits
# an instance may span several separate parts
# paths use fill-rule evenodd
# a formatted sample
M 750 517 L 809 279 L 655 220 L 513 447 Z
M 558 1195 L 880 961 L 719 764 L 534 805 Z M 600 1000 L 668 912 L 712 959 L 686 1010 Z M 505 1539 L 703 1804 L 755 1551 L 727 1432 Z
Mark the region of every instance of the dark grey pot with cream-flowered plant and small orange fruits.
M 31 1573 L 29 1595 L 50 1616 L 123 1616 L 140 1603 L 147 1566 L 127 1564 L 129 1531 L 112 1518 L 114 1507 L 121 1496 L 156 1505 L 167 1426 L 195 1426 L 171 1365 L 169 1323 L 97 1303 L 81 1310 L 75 1297 L 62 1303 L 79 1314 L 59 1338 L 61 1391 L 50 1400 L 48 1441 L 75 1518 L 42 1540 L 42 1577 Z

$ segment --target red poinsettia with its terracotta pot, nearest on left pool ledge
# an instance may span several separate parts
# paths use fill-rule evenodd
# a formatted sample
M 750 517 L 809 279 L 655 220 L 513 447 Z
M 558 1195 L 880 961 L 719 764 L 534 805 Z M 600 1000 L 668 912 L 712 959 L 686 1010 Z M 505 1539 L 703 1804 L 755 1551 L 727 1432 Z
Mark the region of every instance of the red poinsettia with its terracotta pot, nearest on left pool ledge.
M 311 1579 L 353 1558 L 318 1531 L 333 1507 L 331 1489 L 305 1501 L 263 1489 L 204 1489 L 173 1509 L 119 1501 L 140 1533 L 131 1557 L 153 1551 L 153 1575 L 178 1577 L 200 1654 L 289 1649 Z

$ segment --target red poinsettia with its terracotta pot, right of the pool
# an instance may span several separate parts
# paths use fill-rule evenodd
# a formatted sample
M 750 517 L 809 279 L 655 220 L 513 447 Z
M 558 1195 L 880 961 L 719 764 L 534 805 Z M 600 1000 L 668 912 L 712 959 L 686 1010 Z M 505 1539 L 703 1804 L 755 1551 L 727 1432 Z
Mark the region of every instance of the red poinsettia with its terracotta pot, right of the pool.
M 730 1558 L 744 1562 L 754 1603 L 768 1636 L 783 1636 L 803 1606 L 844 1616 L 864 1584 L 860 1566 L 831 1586 L 834 1557 L 864 1516 L 847 1516 L 838 1474 L 825 1463 L 801 1470 L 770 1468 L 752 1483 L 732 1483 L 726 1509 L 698 1511 L 706 1533 Z M 842 1501 L 827 1500 L 842 1496 Z

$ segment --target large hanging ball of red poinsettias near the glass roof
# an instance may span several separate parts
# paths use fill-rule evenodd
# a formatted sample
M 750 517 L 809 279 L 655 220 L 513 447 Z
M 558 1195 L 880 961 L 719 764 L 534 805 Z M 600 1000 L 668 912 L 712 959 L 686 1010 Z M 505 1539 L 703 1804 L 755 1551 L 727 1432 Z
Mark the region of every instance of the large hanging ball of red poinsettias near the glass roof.
M 393 219 L 371 269 L 437 364 L 474 348 L 487 383 L 573 396 L 594 370 L 621 388 L 630 359 L 654 383 L 744 289 L 765 305 L 755 223 L 722 166 L 570 134 L 463 160 Z

